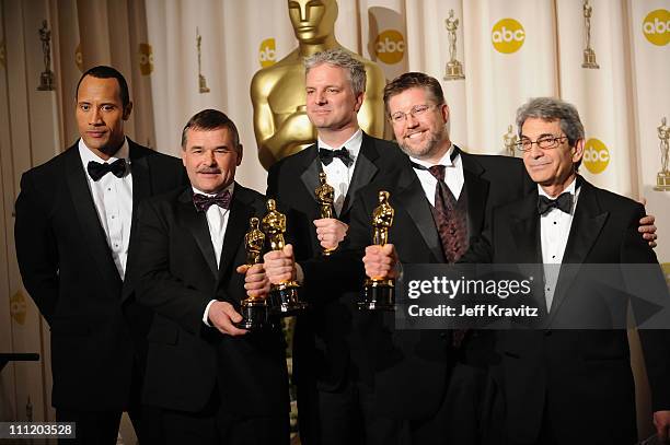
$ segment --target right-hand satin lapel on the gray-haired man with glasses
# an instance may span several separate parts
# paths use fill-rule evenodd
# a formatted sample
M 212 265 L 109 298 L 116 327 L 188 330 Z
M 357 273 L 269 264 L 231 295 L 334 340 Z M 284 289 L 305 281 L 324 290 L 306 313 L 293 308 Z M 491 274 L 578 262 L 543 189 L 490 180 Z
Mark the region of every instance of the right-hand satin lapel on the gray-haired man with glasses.
M 556 283 L 556 292 L 552 301 L 550 323 L 558 312 L 561 304 L 565 301 L 567 291 L 579 272 L 580 265 L 584 264 L 589 251 L 591 251 L 609 215 L 608 211 L 601 210 L 596 199 L 593 186 L 584 181 L 562 261 L 562 265 L 574 266 L 561 269 Z

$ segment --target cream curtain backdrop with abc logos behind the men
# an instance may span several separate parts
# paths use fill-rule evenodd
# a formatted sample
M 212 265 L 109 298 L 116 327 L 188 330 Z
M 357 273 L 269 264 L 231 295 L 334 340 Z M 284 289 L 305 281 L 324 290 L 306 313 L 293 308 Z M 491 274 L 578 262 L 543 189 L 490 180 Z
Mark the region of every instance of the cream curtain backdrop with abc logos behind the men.
M 657 127 L 661 117 L 670 119 L 670 0 L 590 0 L 598 69 L 581 66 L 582 0 L 338 3 L 338 40 L 376 60 L 388 79 L 418 70 L 441 80 L 452 139 L 470 152 L 504 153 L 503 137 L 529 97 L 575 103 L 588 139 L 581 173 L 599 186 L 647 198 L 661 238 L 657 254 L 670 262 L 670 194 L 654 190 Z M 73 95 L 82 70 L 97 63 L 120 69 L 135 101 L 128 134 L 165 153 L 178 155 L 181 129 L 194 113 L 224 110 L 245 147 L 238 179 L 264 191 L 250 81 L 297 42 L 285 0 L 1 0 L 0 7 L 0 242 L 7 246 L 0 253 L 0 352 L 42 352 L 46 359 L 48 327 L 18 273 L 12 207 L 21 173 L 74 141 Z M 459 20 L 457 59 L 464 80 L 443 80 L 450 10 Z M 44 69 L 37 33 L 43 20 L 51 30 L 55 92 L 35 90 Z M 198 74 L 209 91 L 200 90 Z M 48 417 L 49 378 L 48 361 L 8 365 L 0 374 L 2 418 L 25 419 L 28 396 L 34 418 Z

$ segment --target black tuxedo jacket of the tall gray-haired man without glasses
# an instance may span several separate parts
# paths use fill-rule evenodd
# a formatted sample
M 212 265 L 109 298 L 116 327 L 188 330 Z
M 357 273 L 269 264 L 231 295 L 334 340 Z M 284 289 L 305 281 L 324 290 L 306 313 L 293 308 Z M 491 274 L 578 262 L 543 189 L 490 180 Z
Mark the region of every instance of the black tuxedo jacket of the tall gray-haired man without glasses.
M 395 143 L 363 132 L 354 175 L 337 219 L 348 224 L 361 187 L 390 174 L 404 159 Z M 277 199 L 287 215 L 288 239 L 293 244 L 298 261 L 321 257 L 313 221 L 321 218 L 314 190 L 320 185 L 322 171 L 314 144 L 279 161 L 268 173 L 267 196 Z M 349 373 L 351 311 L 358 298 L 358 293 L 343 295 L 332 288 L 333 283 L 324 280 L 311 292 L 303 293 L 302 297 L 311 307 L 298 317 L 293 339 L 297 378 L 300 380 L 309 374 L 325 390 L 336 390 Z

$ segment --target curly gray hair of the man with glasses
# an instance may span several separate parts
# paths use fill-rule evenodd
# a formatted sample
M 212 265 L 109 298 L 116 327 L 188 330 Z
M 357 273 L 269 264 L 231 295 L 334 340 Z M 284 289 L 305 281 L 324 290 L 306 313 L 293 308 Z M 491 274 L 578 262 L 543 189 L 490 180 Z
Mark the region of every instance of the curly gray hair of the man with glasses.
M 542 120 L 558 120 L 561 129 L 567 136 L 570 147 L 584 139 L 584 125 L 575 105 L 554 97 L 535 97 L 517 109 L 517 128 L 521 137 L 521 127 L 528 118 Z

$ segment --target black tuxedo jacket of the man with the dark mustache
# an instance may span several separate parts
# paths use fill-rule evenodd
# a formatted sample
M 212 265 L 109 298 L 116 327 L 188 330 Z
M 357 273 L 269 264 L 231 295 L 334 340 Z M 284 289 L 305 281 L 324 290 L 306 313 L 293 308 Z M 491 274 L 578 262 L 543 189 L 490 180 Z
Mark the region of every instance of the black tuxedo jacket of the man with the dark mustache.
M 286 344 L 280 330 L 222 335 L 203 321 L 211 300 L 238 311 L 246 297 L 244 235 L 265 199 L 235 184 L 219 267 L 207 216 L 193 189 L 148 200 L 140 208 L 138 300 L 155 312 L 149 332 L 143 401 L 198 412 L 218 390 L 223 409 L 241 415 L 288 412 Z

